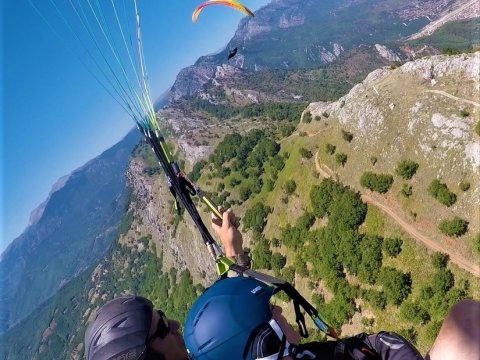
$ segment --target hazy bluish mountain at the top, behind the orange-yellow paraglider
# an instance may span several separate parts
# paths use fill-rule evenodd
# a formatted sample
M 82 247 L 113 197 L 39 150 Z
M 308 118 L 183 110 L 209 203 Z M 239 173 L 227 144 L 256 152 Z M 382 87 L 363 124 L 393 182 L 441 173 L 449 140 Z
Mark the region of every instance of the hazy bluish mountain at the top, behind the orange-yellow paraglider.
M 401 41 L 457 9 L 459 4 L 462 1 L 272 1 L 259 9 L 254 18 L 240 22 L 223 51 L 203 56 L 183 69 L 171 89 L 170 100 L 191 96 L 205 84 L 215 82 L 217 68 L 225 64 L 255 72 L 336 66 L 332 76 L 339 73 L 339 67 L 346 73 L 354 68 L 360 79 L 350 74 L 351 86 L 343 86 L 343 95 L 375 67 L 406 59 L 400 49 Z M 238 53 L 227 60 L 230 49 L 235 47 Z M 305 78 L 318 83 L 318 77 Z M 304 96 L 304 100 L 313 98 Z

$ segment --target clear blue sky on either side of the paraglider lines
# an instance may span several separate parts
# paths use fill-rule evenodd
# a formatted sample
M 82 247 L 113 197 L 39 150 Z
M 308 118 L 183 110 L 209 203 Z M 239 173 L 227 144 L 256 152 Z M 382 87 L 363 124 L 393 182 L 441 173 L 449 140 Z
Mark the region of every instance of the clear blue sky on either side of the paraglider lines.
M 268 2 L 242 1 L 253 11 Z M 173 84 L 180 69 L 224 47 L 243 17 L 232 9 L 211 6 L 192 24 L 191 13 L 201 1 L 139 3 L 154 100 Z M 25 229 L 30 212 L 58 178 L 115 144 L 133 122 L 28 0 L 4 0 L 1 6 L 3 251 Z M 73 36 L 65 40 L 75 41 Z

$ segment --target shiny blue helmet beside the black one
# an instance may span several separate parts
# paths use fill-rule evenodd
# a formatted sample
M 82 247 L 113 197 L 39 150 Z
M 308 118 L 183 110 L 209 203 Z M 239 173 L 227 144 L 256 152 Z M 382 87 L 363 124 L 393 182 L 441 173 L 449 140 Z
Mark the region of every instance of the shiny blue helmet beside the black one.
M 183 331 L 194 360 L 252 359 L 253 335 L 271 318 L 275 288 L 249 277 L 221 279 L 193 304 Z

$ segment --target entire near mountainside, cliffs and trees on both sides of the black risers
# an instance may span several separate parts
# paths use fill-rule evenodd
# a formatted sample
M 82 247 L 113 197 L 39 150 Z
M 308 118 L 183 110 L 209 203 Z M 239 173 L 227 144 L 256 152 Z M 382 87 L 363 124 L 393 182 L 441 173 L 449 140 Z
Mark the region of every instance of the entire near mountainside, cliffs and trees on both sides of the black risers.
M 478 275 L 457 265 L 473 263 L 474 272 L 480 258 L 478 56 L 380 69 L 303 114 L 298 104 L 217 112 L 200 102 L 183 114 L 168 109 L 164 126 L 184 131 L 172 149 L 191 177 L 241 216 L 256 269 L 293 282 L 342 336 L 393 330 L 424 353 L 451 304 L 480 299 Z M 108 299 L 138 293 L 183 319 L 214 279 L 198 232 L 174 212 L 147 150 L 139 146 L 130 163 L 130 201 L 111 253 L 4 335 L 13 347 L 2 346 L 3 358 L 80 359 L 86 323 Z M 292 320 L 284 300 L 275 301 Z M 21 336 L 25 329 L 34 341 Z

